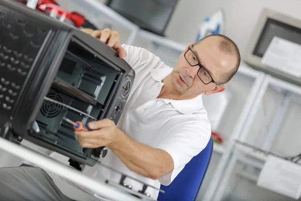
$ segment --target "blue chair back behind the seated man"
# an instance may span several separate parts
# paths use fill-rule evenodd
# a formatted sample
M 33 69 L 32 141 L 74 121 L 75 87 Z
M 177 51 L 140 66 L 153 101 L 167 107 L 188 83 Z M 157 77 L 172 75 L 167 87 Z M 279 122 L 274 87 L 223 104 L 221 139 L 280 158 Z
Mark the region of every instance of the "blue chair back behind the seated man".
M 213 141 L 210 138 L 205 149 L 185 165 L 170 185 L 161 185 L 165 193 L 159 193 L 158 201 L 195 200 L 206 173 L 212 149 Z

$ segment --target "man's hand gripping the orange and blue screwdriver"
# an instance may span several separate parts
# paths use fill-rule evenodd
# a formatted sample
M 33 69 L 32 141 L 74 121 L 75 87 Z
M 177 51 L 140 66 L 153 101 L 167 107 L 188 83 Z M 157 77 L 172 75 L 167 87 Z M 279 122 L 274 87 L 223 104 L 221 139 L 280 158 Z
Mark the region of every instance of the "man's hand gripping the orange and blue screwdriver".
M 109 119 L 90 122 L 88 128 L 92 131 L 76 131 L 79 145 L 85 148 L 97 148 L 109 146 L 118 135 L 118 129 L 115 123 Z

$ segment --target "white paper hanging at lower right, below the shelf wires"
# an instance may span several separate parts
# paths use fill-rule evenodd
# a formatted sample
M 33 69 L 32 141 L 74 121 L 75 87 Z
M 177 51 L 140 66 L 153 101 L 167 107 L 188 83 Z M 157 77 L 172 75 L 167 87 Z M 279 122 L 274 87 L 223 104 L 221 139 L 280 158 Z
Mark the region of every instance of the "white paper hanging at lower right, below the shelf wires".
M 260 172 L 257 185 L 298 199 L 301 195 L 301 165 L 269 156 Z

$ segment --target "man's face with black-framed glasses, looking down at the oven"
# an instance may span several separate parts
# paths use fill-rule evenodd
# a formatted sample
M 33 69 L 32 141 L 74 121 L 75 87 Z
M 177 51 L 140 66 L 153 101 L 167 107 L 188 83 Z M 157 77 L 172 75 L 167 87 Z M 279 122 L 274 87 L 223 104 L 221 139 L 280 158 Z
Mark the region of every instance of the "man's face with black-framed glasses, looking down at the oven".
M 185 53 L 192 44 L 187 46 L 181 54 L 171 74 L 172 85 L 180 93 L 179 95 L 194 97 L 202 93 L 209 95 L 225 90 L 223 85 L 217 85 L 213 82 L 208 83 L 211 78 L 215 82 L 221 82 L 221 76 L 233 69 L 236 64 L 235 56 L 220 51 L 219 41 L 220 38 L 218 37 L 209 37 L 191 48 L 194 53 L 191 60 L 196 59 L 196 56 L 206 71 L 204 69 L 199 71 L 199 65 L 191 66 L 188 63 L 187 59 L 189 60 L 188 56 L 191 56 L 191 54 L 187 53 L 187 59 L 185 58 Z M 199 78 L 198 71 L 199 76 L 203 77 L 202 80 L 208 84 L 205 84 Z

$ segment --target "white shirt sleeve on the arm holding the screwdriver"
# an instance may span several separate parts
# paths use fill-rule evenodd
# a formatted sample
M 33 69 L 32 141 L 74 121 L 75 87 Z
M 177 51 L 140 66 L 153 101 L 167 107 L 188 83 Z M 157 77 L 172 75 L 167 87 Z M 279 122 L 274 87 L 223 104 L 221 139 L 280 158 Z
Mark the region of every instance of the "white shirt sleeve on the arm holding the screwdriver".
M 185 165 L 198 155 L 208 144 L 211 136 L 210 123 L 189 123 L 178 126 L 156 148 L 169 153 L 174 161 L 174 169 L 158 180 L 169 185 L 182 171 Z

